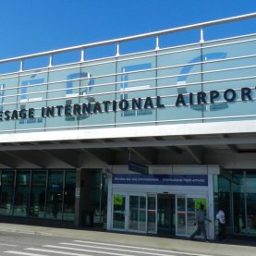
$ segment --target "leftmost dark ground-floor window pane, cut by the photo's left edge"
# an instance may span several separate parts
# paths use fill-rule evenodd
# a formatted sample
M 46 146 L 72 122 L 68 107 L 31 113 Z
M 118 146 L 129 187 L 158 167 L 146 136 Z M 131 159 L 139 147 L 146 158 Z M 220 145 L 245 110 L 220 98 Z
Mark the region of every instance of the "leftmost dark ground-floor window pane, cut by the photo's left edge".
M 2 171 L 1 176 L 1 200 L 0 213 L 12 214 L 13 209 L 13 191 L 14 191 L 14 171 Z

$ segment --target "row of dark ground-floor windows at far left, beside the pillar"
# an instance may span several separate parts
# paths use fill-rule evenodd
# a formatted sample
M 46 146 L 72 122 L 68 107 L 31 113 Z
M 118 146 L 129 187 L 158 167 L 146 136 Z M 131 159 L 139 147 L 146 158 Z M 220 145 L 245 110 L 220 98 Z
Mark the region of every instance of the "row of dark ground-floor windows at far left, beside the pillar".
M 1 170 L 0 214 L 74 220 L 75 170 Z

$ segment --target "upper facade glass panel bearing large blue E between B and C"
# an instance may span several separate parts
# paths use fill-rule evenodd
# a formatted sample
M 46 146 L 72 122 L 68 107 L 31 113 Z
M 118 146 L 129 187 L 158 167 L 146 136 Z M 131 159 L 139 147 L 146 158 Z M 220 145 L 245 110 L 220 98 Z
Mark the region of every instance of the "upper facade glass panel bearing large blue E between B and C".
M 117 72 L 121 75 L 117 76 L 117 94 L 116 100 L 126 100 L 128 109 L 126 111 L 116 112 L 116 122 L 136 122 L 155 120 L 156 106 L 156 71 L 155 56 L 135 55 L 135 59 L 123 60 L 117 63 Z M 140 58 L 137 58 L 140 57 Z M 152 103 L 146 104 L 146 97 L 152 98 Z M 140 107 L 136 106 L 132 109 L 132 99 L 141 98 Z M 145 107 L 146 104 L 146 107 Z

